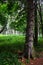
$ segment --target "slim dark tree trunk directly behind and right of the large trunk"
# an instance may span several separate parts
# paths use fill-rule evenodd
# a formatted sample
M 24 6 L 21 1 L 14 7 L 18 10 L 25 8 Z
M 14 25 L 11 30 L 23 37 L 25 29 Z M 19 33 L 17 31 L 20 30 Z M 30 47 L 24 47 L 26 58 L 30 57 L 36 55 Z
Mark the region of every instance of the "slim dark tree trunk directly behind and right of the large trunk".
M 38 20 L 37 20 L 37 0 L 35 0 L 35 37 L 34 37 L 34 45 L 38 43 Z

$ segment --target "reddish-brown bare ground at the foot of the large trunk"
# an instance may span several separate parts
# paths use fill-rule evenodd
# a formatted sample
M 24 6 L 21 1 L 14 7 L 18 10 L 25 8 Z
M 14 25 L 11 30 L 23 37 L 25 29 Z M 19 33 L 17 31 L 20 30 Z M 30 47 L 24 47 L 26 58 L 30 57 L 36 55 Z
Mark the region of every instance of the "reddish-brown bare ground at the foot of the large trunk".
M 39 57 L 35 59 L 30 59 L 29 63 L 26 63 L 26 59 L 23 58 L 21 60 L 22 64 L 21 65 L 43 65 L 43 52 L 38 53 Z

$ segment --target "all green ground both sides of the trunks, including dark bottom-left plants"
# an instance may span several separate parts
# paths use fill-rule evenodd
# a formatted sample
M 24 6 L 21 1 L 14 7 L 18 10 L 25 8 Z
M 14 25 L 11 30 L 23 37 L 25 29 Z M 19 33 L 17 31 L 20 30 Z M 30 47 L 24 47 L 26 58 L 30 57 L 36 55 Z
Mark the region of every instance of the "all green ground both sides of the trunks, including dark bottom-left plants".
M 25 36 L 18 35 L 0 35 L 0 65 L 20 65 L 17 51 L 23 51 Z M 43 51 L 43 39 L 38 39 L 38 45 L 35 46 L 37 52 Z

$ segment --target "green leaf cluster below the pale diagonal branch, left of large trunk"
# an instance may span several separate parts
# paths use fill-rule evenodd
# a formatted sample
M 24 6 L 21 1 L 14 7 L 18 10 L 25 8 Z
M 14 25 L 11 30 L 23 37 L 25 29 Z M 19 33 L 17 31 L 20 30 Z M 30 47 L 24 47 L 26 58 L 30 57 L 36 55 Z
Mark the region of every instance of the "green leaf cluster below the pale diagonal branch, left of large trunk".
M 24 32 L 26 29 L 26 21 L 25 17 L 21 18 L 20 20 L 16 20 L 10 24 L 11 28 L 14 30 L 18 30 L 20 32 Z

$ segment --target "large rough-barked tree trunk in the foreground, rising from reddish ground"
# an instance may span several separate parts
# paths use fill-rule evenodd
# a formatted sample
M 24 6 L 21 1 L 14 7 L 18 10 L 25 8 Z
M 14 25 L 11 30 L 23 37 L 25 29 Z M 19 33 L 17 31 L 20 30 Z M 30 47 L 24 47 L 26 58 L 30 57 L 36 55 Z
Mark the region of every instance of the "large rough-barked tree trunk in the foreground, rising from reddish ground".
M 27 12 L 27 27 L 26 27 L 26 44 L 25 44 L 25 54 L 28 59 L 30 56 L 34 57 L 34 47 L 33 47 L 33 35 L 34 35 L 34 4 L 33 0 L 27 0 L 26 12 Z

